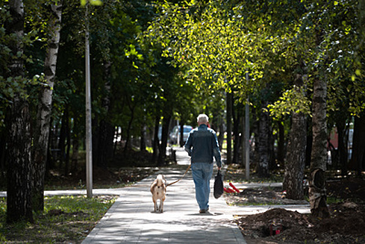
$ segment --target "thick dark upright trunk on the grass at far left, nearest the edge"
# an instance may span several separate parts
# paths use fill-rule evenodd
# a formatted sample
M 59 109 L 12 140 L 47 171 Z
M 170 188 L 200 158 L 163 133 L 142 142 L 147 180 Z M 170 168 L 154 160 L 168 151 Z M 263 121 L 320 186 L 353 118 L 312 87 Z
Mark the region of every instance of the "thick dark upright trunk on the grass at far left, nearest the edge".
M 24 77 L 22 38 L 24 37 L 24 6 L 21 0 L 8 1 L 11 19 L 6 23 L 6 33 L 17 40 L 10 46 L 13 59 L 8 65 L 8 77 Z M 19 58 L 17 58 L 19 57 Z M 15 93 L 8 114 L 8 187 L 6 222 L 26 220 L 33 222 L 31 208 L 31 114 L 26 98 Z

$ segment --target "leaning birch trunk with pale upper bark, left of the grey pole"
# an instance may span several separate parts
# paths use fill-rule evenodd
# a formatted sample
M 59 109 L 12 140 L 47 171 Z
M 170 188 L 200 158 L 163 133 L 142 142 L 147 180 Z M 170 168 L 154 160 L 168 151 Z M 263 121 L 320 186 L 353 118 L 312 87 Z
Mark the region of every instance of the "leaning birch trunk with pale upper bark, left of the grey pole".
M 44 67 L 46 84 L 41 86 L 38 94 L 37 121 L 34 128 L 32 204 L 35 211 L 43 211 L 44 209 L 45 168 L 52 112 L 52 93 L 59 52 L 62 1 L 52 4 L 51 10 L 52 13 L 49 17 L 51 38 L 48 41 Z

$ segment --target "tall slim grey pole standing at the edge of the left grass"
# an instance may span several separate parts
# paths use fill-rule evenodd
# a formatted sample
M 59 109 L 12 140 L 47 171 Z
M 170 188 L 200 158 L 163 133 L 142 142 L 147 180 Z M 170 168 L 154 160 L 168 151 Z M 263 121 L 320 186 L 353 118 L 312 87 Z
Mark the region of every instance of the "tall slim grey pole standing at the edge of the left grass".
M 93 197 L 93 144 L 91 134 L 90 50 L 88 45 L 88 2 L 86 3 L 85 70 L 86 70 L 86 195 Z

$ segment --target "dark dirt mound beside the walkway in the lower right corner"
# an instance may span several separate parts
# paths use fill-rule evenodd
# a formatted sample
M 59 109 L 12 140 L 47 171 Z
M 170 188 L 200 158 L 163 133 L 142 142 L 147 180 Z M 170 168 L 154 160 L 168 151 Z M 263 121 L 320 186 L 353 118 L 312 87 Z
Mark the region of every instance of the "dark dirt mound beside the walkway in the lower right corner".
M 247 243 L 365 243 L 362 206 L 346 202 L 333 204 L 329 209 L 332 217 L 324 220 L 273 208 L 236 222 Z

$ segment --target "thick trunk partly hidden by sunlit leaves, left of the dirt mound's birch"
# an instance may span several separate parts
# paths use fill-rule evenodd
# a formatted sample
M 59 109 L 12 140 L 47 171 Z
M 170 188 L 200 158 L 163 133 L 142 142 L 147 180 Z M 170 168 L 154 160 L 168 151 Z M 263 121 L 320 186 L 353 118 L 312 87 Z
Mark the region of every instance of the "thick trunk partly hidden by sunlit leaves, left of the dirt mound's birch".
M 302 75 L 297 75 L 295 86 L 300 92 L 303 85 Z M 306 159 L 306 116 L 302 113 L 292 113 L 292 124 L 288 142 L 288 152 L 285 162 L 283 189 L 288 199 L 304 199 L 303 178 Z

